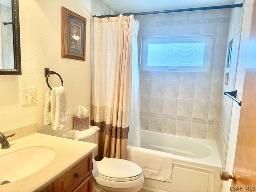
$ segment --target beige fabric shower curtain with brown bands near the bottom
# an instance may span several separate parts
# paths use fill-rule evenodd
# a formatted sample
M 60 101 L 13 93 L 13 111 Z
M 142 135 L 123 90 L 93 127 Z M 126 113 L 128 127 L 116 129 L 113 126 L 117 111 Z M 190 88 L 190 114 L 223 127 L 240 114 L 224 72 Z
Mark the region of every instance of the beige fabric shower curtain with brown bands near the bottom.
M 126 159 L 134 16 L 93 18 L 92 125 L 100 127 L 98 160 Z

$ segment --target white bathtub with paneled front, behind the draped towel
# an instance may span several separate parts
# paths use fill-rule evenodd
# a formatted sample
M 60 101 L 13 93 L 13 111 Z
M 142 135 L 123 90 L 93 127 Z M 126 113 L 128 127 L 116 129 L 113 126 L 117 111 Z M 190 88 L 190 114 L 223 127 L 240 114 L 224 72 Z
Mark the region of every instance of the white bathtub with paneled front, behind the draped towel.
M 220 192 L 216 142 L 141 130 L 141 147 L 174 154 L 172 182 L 145 178 L 140 192 Z

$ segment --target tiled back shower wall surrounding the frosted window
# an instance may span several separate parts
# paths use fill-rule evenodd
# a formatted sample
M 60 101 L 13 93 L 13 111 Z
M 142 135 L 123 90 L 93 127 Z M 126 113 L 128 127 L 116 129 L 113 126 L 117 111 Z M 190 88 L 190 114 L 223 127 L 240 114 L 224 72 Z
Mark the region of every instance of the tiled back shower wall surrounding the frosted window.
M 230 9 L 135 16 L 150 36 L 212 34 L 210 70 L 140 71 L 141 129 L 217 140 Z

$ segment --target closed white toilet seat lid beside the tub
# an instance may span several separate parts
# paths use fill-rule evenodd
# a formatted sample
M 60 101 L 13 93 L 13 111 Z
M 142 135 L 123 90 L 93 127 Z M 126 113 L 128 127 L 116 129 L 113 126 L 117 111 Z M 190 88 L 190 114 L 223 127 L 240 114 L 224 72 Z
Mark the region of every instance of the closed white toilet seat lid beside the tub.
M 140 178 L 142 169 L 124 159 L 104 157 L 98 164 L 100 177 L 112 181 L 130 181 Z

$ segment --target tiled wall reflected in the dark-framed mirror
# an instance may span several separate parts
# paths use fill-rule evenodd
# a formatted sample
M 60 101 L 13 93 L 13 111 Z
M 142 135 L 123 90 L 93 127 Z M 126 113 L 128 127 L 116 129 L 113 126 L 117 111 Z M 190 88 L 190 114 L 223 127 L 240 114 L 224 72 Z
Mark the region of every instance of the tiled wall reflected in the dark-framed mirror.
M 14 69 L 14 53 L 13 53 L 13 38 L 12 38 L 12 25 L 4 25 L 3 22 L 12 22 L 12 8 L 0 4 L 0 20 L 1 20 L 1 40 L 2 47 L 0 68 Z M 1 65 L 3 62 L 3 65 Z

